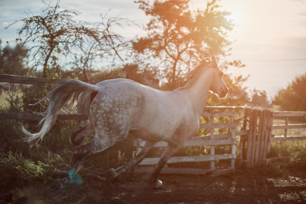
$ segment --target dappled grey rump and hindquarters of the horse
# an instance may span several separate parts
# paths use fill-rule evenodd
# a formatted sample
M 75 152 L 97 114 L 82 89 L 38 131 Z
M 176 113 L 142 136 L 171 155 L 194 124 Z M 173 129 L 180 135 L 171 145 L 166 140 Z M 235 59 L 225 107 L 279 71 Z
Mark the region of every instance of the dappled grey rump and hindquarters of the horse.
M 91 122 L 100 131 L 121 135 L 141 113 L 145 103 L 142 85 L 129 79 L 111 79 L 96 86 L 99 91 L 90 105 Z

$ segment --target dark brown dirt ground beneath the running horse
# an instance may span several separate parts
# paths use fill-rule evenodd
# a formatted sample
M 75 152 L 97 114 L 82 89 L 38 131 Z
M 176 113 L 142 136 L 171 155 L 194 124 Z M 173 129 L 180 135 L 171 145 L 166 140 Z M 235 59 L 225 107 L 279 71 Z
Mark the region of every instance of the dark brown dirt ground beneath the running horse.
M 112 182 L 83 178 L 50 191 L 36 184 L 0 191 L 0 204 L 299 204 L 306 203 L 306 172 L 268 175 L 261 170 L 236 170 L 219 177 L 161 175 L 164 188 L 154 190 L 150 175 L 135 175 Z

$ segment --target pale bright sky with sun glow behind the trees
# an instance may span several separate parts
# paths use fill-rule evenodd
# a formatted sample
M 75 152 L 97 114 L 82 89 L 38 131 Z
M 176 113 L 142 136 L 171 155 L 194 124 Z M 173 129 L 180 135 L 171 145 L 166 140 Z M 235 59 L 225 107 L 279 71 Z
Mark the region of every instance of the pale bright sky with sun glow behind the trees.
M 55 5 L 56 0 L 45 2 Z M 193 9 L 204 10 L 206 3 L 190 0 Z M 218 4 L 220 10 L 232 12 L 229 18 L 237 24 L 228 33 L 233 44 L 227 58 L 245 64 L 244 68 L 230 68 L 228 73 L 250 75 L 244 85 L 264 90 L 272 98 L 295 77 L 306 73 L 306 0 L 220 0 Z M 134 0 L 61 0 L 60 6 L 79 10 L 79 20 L 87 22 L 98 22 L 101 14 L 127 18 L 139 25 L 149 22 Z M 27 13 L 39 14 L 45 7 L 41 0 L 0 0 L 2 46 L 17 37 L 20 24 L 4 27 Z M 118 32 L 127 38 L 145 35 L 141 26 Z

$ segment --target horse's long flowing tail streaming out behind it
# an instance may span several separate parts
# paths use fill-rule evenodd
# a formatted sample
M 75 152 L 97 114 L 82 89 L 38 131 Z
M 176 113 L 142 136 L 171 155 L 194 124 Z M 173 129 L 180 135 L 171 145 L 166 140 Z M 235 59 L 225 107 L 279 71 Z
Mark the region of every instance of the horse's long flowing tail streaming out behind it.
M 42 113 L 44 118 L 39 123 L 39 125 L 42 125 L 42 129 L 38 133 L 33 134 L 22 126 L 22 131 L 27 136 L 25 139 L 27 141 L 36 139 L 38 139 L 38 141 L 42 141 L 44 135 L 55 123 L 59 111 L 66 103 L 69 102 L 69 107 L 72 107 L 76 102 L 78 105 L 87 104 L 91 93 L 94 91 L 98 91 L 98 88 L 95 85 L 74 79 L 66 80 L 64 83 L 61 83 L 53 88 L 46 96 L 36 103 L 42 103 L 46 99 L 49 100 L 47 110 Z

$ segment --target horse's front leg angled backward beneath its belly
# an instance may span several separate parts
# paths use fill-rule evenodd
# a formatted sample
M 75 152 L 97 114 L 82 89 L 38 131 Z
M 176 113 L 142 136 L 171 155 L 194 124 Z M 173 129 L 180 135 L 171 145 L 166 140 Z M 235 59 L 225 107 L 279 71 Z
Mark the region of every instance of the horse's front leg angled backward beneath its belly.
M 145 157 L 145 155 L 149 152 L 149 150 L 156 144 L 154 141 L 146 141 L 146 144 L 141 149 L 140 153 L 136 155 L 127 165 L 120 166 L 117 169 L 110 169 L 107 175 L 109 180 L 116 178 L 120 174 L 126 172 L 127 169 L 131 168 L 134 164 L 139 163 Z

